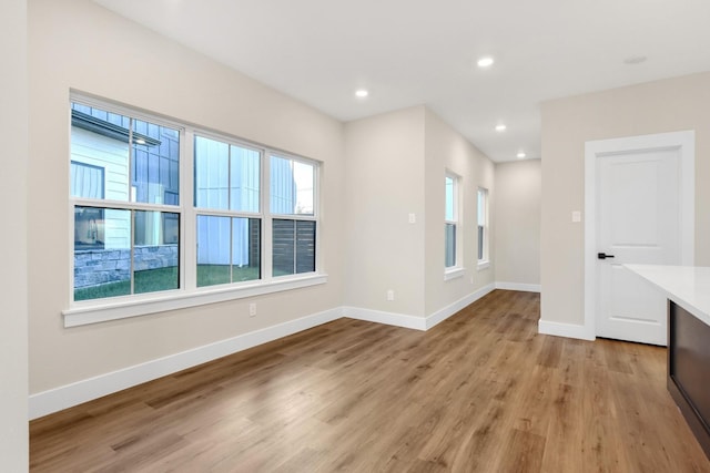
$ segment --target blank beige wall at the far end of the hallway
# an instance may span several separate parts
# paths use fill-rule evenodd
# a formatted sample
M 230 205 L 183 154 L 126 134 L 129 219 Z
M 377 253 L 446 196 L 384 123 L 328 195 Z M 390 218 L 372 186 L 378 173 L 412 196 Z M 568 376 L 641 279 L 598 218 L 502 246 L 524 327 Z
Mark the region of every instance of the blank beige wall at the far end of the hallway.
M 540 284 L 540 160 L 496 164 L 496 281 Z M 515 286 L 511 286 L 515 287 Z

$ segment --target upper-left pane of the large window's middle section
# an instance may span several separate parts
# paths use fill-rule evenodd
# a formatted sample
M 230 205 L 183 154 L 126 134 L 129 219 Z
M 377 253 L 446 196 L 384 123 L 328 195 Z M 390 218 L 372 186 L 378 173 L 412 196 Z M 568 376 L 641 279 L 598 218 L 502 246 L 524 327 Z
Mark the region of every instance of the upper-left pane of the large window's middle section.
M 195 206 L 230 207 L 230 145 L 195 136 Z

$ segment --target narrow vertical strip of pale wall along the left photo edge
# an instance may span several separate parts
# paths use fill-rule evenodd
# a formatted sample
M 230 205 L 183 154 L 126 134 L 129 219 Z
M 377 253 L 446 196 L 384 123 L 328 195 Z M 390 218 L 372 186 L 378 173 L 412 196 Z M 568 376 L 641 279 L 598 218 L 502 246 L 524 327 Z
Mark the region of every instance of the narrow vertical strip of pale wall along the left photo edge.
M 0 470 L 28 470 L 27 2 L 0 2 Z

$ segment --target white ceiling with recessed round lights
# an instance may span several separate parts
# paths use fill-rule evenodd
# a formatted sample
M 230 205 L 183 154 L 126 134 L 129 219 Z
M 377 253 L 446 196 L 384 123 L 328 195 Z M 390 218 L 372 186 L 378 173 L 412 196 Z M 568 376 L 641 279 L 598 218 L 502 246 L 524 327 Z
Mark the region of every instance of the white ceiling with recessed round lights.
M 540 157 L 541 101 L 710 70 L 710 0 L 94 1 L 342 121 L 426 104 L 497 162 Z

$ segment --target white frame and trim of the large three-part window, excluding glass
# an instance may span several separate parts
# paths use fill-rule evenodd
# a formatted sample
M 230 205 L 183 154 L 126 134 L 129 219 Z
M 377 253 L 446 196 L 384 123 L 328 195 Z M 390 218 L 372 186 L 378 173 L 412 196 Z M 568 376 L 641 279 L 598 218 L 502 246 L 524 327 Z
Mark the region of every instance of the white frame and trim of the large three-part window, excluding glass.
M 103 99 L 93 99 L 88 95 L 83 95 L 80 93 L 72 92 L 70 94 L 70 103 L 81 103 L 89 106 L 97 106 L 102 110 L 119 113 L 125 116 L 130 116 L 132 119 L 148 121 L 150 123 L 161 124 L 171 126 L 176 128 L 181 133 L 181 164 L 180 164 L 180 205 L 179 206 L 170 206 L 170 205 L 155 205 L 155 204 L 142 204 L 142 203 L 133 203 L 133 202 L 118 202 L 118 200 L 93 200 L 93 199 L 84 199 L 84 198 L 74 198 L 71 195 L 68 196 L 69 204 L 69 280 L 71 284 L 69 285 L 69 300 L 70 307 L 68 309 L 62 310 L 62 316 L 64 319 L 64 327 L 79 327 L 90 323 L 99 323 L 109 320 L 119 320 L 130 317 L 139 317 L 151 313 L 164 312 L 169 310 L 178 310 L 190 307 L 196 307 L 207 304 L 215 304 L 229 300 L 243 299 L 248 297 L 262 296 L 273 292 L 281 292 L 285 290 L 300 289 L 311 286 L 323 285 L 327 282 L 327 274 L 323 270 L 322 261 L 323 256 L 321 255 L 321 206 L 322 202 L 320 198 L 321 195 L 321 174 L 323 163 L 317 162 L 315 160 L 310 160 L 306 157 L 294 155 L 293 153 L 282 152 L 276 148 L 272 148 L 268 146 L 260 145 L 256 143 L 251 143 L 248 141 L 233 137 L 225 133 L 214 133 L 206 131 L 204 128 L 200 128 L 197 126 L 192 126 L 186 123 L 181 123 L 178 121 L 173 121 L 170 119 L 164 119 L 159 114 L 146 114 L 141 112 L 139 109 L 133 109 L 130 106 L 123 106 L 115 104 L 111 101 Z M 255 217 L 262 219 L 262 279 L 244 281 L 244 282 L 232 282 L 224 285 L 214 285 L 214 286 L 196 286 L 196 268 L 194 270 L 187 270 L 187 266 L 191 267 L 196 265 L 196 216 L 205 215 L 205 214 L 216 214 L 217 212 L 213 212 L 211 209 L 197 208 L 194 206 L 194 183 L 193 183 L 193 168 L 194 168 L 194 146 L 193 140 L 195 135 L 205 136 L 210 138 L 226 141 L 232 144 L 243 145 L 250 148 L 257 150 L 262 153 L 262 188 L 261 188 L 261 206 L 262 209 L 258 214 L 252 213 L 235 213 L 235 214 L 244 214 L 246 217 Z M 300 161 L 308 164 L 315 165 L 315 176 L 314 176 L 314 213 L 313 215 L 280 215 L 280 214 L 271 214 L 271 212 L 266 212 L 266 206 L 268 205 L 268 197 L 265 195 L 270 191 L 268 186 L 268 175 L 270 175 L 270 164 L 268 158 L 272 154 L 276 154 L 280 157 L 291 158 L 294 161 Z M 68 176 L 69 178 L 69 176 Z M 138 208 L 138 209 L 151 209 L 151 210 L 162 210 L 162 212 L 173 212 L 180 214 L 180 289 L 173 290 L 164 290 L 149 294 L 139 294 L 139 295 L 129 295 L 129 296 L 118 296 L 104 299 L 92 299 L 84 301 L 74 301 L 73 298 L 73 251 L 74 251 L 74 240 L 73 240 L 73 218 L 74 218 L 74 206 L 77 205 L 89 205 L 89 206 L 99 206 L 105 208 Z M 220 210 L 219 213 L 221 213 Z M 230 212 L 232 213 L 232 212 Z M 242 216 L 242 215 L 236 215 Z M 284 275 L 284 276 L 272 276 L 272 255 L 271 255 L 271 244 L 266 246 L 266 238 L 271 238 L 271 222 L 273 218 L 285 218 L 285 219 L 294 219 L 294 220 L 313 220 L 316 223 L 316 248 L 315 248 L 315 271 L 312 273 L 301 273 L 295 275 Z M 190 237 L 187 235 L 191 235 Z

